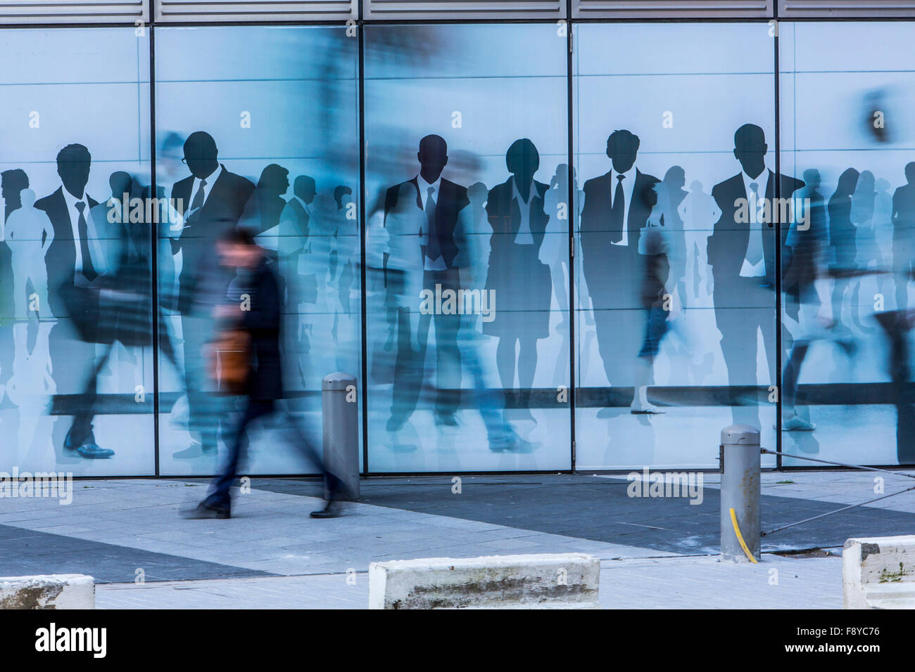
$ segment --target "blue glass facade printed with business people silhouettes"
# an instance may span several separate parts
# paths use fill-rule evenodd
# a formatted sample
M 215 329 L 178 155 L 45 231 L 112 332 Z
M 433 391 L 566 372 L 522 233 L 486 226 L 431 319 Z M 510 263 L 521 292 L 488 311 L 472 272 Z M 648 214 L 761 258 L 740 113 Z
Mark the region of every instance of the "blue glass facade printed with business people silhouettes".
M 733 422 L 764 466 L 915 463 L 913 35 L 5 28 L 0 469 L 217 470 L 235 226 L 285 411 L 319 432 L 355 376 L 366 473 L 715 468 Z M 247 473 L 314 472 L 294 442 Z

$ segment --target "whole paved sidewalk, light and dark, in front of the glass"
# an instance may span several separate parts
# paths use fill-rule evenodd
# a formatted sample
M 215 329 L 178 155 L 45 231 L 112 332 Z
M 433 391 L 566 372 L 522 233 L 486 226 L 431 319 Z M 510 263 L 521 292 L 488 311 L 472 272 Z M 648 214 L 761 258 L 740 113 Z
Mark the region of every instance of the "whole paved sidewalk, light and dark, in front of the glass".
M 763 528 L 872 498 L 873 478 L 763 475 Z M 586 552 L 602 560 L 606 607 L 840 607 L 837 557 L 717 561 L 716 480 L 705 475 L 691 505 L 630 498 L 625 477 L 465 476 L 460 494 L 448 477 L 373 478 L 328 520 L 307 517 L 321 506 L 315 480 L 255 478 L 231 520 L 178 516 L 204 494 L 202 480 L 78 481 L 66 507 L 0 499 L 0 576 L 90 574 L 102 608 L 361 608 L 373 561 Z M 839 552 L 849 537 L 908 533 L 913 498 L 791 528 L 764 549 Z

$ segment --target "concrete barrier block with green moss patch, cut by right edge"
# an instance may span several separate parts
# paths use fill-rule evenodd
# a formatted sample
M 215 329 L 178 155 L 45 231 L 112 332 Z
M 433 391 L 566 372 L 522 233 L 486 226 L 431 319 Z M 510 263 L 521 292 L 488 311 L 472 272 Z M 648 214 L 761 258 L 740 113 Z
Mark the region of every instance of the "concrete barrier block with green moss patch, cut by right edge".
M 915 609 L 915 535 L 845 541 L 842 595 L 845 609 Z

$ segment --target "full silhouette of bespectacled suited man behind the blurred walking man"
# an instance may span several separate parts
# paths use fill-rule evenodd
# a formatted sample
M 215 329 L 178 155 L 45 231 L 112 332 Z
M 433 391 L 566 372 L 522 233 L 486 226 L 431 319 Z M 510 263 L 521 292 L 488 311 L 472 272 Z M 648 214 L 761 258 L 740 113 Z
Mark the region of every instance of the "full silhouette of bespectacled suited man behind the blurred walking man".
M 171 197 L 185 226 L 178 237 L 170 240 L 172 252 L 182 253 L 178 311 L 184 337 L 188 416 L 192 431 L 200 436 L 199 446 L 195 442 L 188 450 L 176 453 L 188 458 L 200 452 L 216 452 L 218 420 L 211 408 L 210 394 L 205 391 L 203 348 L 213 328 L 211 309 L 225 297 L 231 280 L 221 268 L 216 241 L 238 225 L 254 185 L 221 165 L 216 141 L 204 131 L 188 135 L 182 162 L 190 175 L 175 183 Z

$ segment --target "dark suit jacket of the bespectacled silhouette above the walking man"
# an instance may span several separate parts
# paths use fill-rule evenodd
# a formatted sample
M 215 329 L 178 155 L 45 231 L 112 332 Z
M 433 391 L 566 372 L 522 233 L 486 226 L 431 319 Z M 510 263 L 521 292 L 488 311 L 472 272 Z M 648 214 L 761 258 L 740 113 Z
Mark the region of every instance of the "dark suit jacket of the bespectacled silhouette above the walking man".
M 216 240 L 222 232 L 238 226 L 245 205 L 254 191 L 251 180 L 235 175 L 221 165 L 222 172 L 210 187 L 207 199 L 190 219 L 178 238 L 172 239 L 172 251 L 182 251 L 181 275 L 178 278 L 178 310 L 187 315 L 194 302 L 199 276 L 206 272 L 218 272 L 219 260 L 216 254 Z M 191 189 L 194 176 L 185 177 L 172 187 L 178 213 L 190 209 Z

